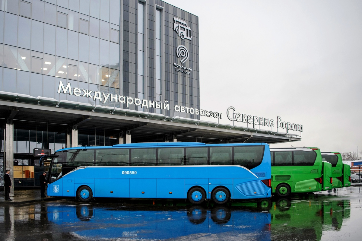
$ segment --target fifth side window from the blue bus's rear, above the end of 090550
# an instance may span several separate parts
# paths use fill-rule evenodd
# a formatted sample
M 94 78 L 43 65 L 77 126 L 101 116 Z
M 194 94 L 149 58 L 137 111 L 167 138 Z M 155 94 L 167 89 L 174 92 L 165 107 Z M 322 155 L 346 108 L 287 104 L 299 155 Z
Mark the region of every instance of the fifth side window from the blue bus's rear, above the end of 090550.
M 156 165 L 156 148 L 137 148 L 131 150 L 131 166 Z

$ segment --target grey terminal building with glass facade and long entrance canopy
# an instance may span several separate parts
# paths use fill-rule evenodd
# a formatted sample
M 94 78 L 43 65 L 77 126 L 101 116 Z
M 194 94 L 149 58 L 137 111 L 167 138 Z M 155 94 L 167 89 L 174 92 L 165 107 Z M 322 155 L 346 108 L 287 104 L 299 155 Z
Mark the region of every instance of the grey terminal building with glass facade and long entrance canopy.
M 0 20 L 0 186 L 39 185 L 34 149 L 300 140 L 202 109 L 198 17 L 164 1 L 0 0 Z

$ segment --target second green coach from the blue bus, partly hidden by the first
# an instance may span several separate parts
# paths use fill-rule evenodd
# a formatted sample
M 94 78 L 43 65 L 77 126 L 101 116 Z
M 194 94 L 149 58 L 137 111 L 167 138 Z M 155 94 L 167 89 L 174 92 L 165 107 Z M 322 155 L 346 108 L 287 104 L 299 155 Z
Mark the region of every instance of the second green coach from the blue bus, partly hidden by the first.
M 341 153 L 321 152 L 321 155 L 323 161 L 328 161 L 332 164 L 333 188 L 343 187 L 343 163 Z

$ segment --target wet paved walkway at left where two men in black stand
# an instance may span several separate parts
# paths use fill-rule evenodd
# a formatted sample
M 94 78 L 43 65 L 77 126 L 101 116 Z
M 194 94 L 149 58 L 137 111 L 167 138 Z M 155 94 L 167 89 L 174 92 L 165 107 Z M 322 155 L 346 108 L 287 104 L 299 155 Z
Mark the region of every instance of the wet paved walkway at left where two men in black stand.
M 25 204 L 25 203 L 34 203 L 41 201 L 51 201 L 58 200 L 63 197 L 54 197 L 54 196 L 46 196 L 42 198 L 40 196 L 39 189 L 15 189 L 14 196 L 10 196 L 12 201 L 5 201 L 4 197 L 4 189 L 0 191 L 0 204 L 11 203 L 11 204 Z

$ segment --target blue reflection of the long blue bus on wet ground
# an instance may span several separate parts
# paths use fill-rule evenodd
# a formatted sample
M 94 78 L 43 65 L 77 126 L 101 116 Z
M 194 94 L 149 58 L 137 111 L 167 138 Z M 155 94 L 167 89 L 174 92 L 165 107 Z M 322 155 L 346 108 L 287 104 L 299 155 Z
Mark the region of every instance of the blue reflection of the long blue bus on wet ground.
M 137 209 L 137 210 L 135 210 Z M 142 209 L 142 210 L 140 210 Z M 77 238 L 178 239 L 222 234 L 270 240 L 270 213 L 214 207 L 99 207 L 92 204 L 47 207 L 55 230 Z M 225 238 L 223 238 L 225 239 Z

